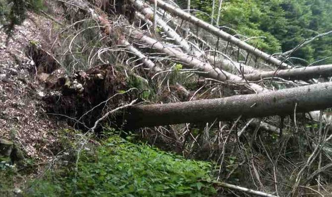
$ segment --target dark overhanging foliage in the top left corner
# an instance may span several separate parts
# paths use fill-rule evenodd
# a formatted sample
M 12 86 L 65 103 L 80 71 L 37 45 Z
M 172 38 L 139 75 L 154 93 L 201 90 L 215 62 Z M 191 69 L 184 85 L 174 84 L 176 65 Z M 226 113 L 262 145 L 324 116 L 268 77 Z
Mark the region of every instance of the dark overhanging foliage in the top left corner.
M 38 12 L 43 7 L 44 0 L 0 0 L 0 24 L 9 34 L 25 20 L 27 10 Z

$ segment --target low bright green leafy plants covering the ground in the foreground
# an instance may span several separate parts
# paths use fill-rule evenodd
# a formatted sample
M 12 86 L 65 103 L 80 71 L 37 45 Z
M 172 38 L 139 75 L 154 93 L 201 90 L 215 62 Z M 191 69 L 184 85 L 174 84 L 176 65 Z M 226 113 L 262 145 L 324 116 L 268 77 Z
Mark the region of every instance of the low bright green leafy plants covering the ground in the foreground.
M 33 182 L 27 195 L 211 196 L 216 191 L 206 182 L 210 167 L 113 136 L 96 150 L 82 152 L 77 174 L 69 169 L 49 174 Z

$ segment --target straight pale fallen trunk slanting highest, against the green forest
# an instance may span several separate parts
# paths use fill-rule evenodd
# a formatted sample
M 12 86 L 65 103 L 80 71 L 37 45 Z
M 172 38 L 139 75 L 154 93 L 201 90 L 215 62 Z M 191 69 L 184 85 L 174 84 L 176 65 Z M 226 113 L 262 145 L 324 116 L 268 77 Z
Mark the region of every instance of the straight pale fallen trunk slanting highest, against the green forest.
M 150 0 L 150 2 L 153 3 L 153 2 L 155 2 L 155 0 Z M 193 24 L 209 31 L 210 33 L 220 37 L 221 39 L 223 39 L 225 41 L 228 41 L 228 42 L 236 45 L 237 47 L 239 47 L 241 49 L 244 49 L 248 53 L 254 54 L 257 57 L 262 58 L 263 60 L 269 62 L 270 64 L 280 66 L 281 68 L 291 68 L 291 66 L 289 66 L 285 63 L 282 63 L 280 60 L 272 57 L 271 55 L 262 52 L 261 50 L 247 44 L 246 42 L 235 38 L 234 36 L 220 30 L 219 28 L 217 28 L 213 25 L 210 25 L 207 22 L 204 22 L 203 20 L 200 20 L 200 19 L 196 18 L 195 16 L 193 16 L 191 14 L 188 14 L 185 11 L 182 11 L 179 8 L 176 8 L 176 7 L 174 7 L 174 6 L 172 6 L 168 3 L 165 3 L 161 0 L 157 0 L 157 3 L 158 3 L 159 7 L 167 10 L 168 12 L 170 12 L 170 13 L 172 13 L 172 14 L 174 14 L 174 15 L 176 15 L 176 16 L 184 19 L 184 20 L 187 20 L 187 21 L 189 21 L 189 22 L 191 22 L 191 23 L 193 23 Z

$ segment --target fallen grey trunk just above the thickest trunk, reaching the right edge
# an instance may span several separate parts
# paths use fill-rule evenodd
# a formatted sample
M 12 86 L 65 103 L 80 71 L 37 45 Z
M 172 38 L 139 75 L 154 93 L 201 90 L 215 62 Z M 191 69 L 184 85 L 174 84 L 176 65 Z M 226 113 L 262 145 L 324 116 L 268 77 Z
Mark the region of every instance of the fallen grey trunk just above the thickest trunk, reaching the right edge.
M 306 80 L 316 77 L 332 76 L 332 65 L 310 66 L 276 71 L 262 71 L 260 73 L 245 74 L 249 81 L 256 81 L 268 77 L 280 77 L 288 80 Z

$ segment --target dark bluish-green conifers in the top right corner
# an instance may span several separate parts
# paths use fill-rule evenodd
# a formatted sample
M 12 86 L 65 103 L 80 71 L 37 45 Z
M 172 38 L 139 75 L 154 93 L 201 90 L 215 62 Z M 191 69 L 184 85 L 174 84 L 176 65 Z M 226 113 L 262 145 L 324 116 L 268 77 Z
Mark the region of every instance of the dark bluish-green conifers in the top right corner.
M 285 10 L 285 18 L 288 25 L 286 34 L 281 34 L 282 49 L 288 51 L 319 33 L 332 29 L 332 3 L 331 0 L 284 0 L 280 6 Z M 309 62 L 321 60 L 331 56 L 332 36 L 320 38 L 310 45 L 303 47 L 294 53 L 294 56 Z M 332 63 L 331 60 L 321 64 Z

